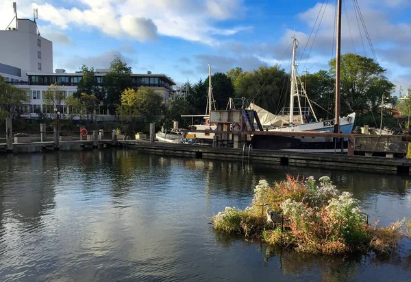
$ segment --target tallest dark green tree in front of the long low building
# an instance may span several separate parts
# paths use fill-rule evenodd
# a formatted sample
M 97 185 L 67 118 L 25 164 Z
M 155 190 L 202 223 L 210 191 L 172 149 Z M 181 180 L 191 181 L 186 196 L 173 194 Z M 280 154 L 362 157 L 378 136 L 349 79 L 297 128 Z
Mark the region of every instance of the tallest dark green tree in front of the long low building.
M 132 68 L 127 67 L 120 57 L 116 56 L 110 64 L 110 71 L 103 76 L 103 91 L 110 105 L 120 104 L 121 93 L 132 88 Z M 110 108 L 110 112 L 114 112 Z

